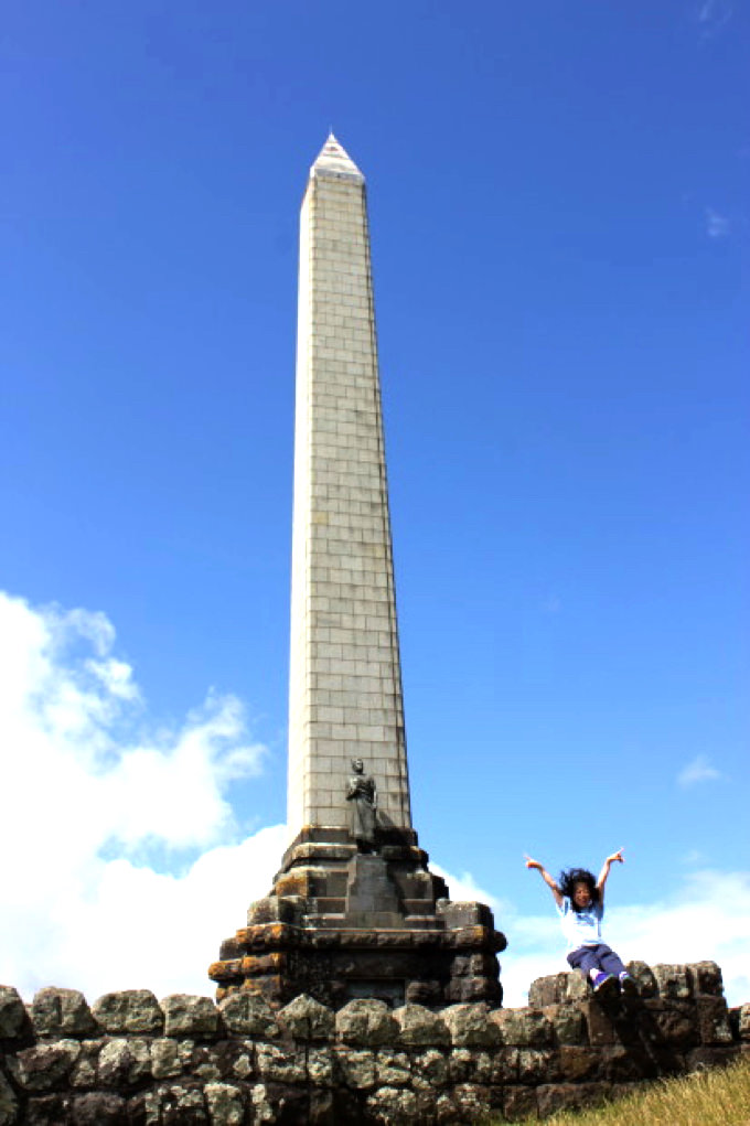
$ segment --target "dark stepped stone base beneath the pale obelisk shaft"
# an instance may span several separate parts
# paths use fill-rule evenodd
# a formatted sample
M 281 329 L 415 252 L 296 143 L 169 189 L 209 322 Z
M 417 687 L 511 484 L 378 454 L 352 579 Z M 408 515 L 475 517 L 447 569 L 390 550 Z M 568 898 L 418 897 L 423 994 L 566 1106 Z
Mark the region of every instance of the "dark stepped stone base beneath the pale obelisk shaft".
M 450 902 L 427 860 L 413 830 L 378 830 L 377 852 L 363 854 L 347 829 L 304 829 L 209 967 L 217 1000 L 242 990 L 275 1009 L 301 993 L 332 1009 L 354 998 L 500 1004 L 505 936 L 484 904 Z

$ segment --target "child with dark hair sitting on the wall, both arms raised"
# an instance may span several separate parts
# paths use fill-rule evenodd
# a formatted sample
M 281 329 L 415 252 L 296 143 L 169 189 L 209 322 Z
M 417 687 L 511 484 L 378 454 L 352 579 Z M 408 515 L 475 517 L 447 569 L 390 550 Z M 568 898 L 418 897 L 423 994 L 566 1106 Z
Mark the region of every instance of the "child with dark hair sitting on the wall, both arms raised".
M 601 941 L 601 917 L 604 915 L 604 890 L 613 864 L 624 864 L 622 848 L 608 856 L 595 883 L 586 868 L 568 868 L 561 873 L 559 883 L 530 856 L 526 867 L 536 868 L 551 890 L 560 912 L 560 921 L 568 939 L 568 963 L 590 977 L 595 993 L 605 997 L 617 993 L 634 995 L 637 985 L 619 957 Z

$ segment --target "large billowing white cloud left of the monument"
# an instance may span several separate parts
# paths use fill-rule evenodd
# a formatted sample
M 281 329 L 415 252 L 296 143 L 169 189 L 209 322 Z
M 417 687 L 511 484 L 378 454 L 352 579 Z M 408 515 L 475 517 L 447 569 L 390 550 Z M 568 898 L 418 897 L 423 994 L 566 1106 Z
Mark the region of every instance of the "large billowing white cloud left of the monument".
M 266 754 L 240 701 L 211 692 L 152 730 L 114 645 L 105 615 L 0 592 L 0 980 L 26 994 L 209 992 L 205 967 L 283 851 L 283 826 L 238 842 L 227 788 Z M 154 847 L 203 855 L 175 876 Z

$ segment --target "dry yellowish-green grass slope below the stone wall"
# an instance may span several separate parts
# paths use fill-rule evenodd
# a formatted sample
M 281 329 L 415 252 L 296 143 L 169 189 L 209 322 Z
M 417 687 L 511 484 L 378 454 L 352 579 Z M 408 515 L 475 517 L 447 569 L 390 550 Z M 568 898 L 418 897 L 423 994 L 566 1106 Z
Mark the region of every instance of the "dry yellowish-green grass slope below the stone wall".
M 562 1111 L 544 1121 L 545 1126 L 750 1126 L 750 1060 L 660 1080 L 618 1102 Z

